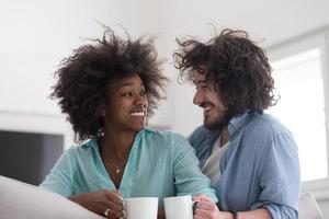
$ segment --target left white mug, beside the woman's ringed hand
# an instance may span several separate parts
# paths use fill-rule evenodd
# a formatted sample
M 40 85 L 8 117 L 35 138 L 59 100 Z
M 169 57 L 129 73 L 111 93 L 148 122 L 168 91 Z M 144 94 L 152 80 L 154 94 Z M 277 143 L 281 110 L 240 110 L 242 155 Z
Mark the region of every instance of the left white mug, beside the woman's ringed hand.
M 126 219 L 157 219 L 157 197 L 125 198 L 124 204 Z

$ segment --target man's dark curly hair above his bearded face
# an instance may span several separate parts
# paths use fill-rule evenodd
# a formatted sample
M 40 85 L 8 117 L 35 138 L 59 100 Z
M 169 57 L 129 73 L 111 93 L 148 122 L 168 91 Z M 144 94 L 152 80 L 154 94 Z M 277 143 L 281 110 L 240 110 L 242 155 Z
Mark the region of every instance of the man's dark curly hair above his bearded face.
M 205 44 L 193 38 L 177 42 L 180 48 L 173 57 L 179 79 L 191 81 L 195 70 L 206 73 L 206 80 L 215 82 L 230 117 L 275 105 L 272 68 L 265 51 L 246 32 L 225 28 Z

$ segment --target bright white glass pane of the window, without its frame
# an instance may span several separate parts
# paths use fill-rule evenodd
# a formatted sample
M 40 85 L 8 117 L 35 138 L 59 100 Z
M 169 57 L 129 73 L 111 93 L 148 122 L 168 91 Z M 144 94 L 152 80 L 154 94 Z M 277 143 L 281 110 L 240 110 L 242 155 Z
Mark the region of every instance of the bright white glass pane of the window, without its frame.
M 281 95 L 271 114 L 293 130 L 302 181 L 327 177 L 324 80 L 320 50 L 314 48 L 272 64 Z

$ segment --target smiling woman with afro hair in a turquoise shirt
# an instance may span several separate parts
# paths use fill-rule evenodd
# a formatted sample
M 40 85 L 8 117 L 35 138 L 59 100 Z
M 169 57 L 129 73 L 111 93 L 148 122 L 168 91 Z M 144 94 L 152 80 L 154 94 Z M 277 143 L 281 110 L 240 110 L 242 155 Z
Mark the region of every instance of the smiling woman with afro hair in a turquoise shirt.
M 106 28 L 64 59 L 56 76 L 53 97 L 81 142 L 41 187 L 111 219 L 125 216 L 128 197 L 158 197 L 160 207 L 175 195 L 217 200 L 188 140 L 145 127 L 167 81 L 151 38 L 125 41 Z

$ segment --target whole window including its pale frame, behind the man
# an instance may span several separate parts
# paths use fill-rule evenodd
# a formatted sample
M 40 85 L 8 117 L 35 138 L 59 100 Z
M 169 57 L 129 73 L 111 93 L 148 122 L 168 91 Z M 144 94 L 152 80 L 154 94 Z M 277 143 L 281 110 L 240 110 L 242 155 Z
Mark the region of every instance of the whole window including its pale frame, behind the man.
M 328 186 L 328 45 L 325 34 L 269 49 L 275 91 L 281 96 L 268 113 L 294 135 L 303 189 Z

